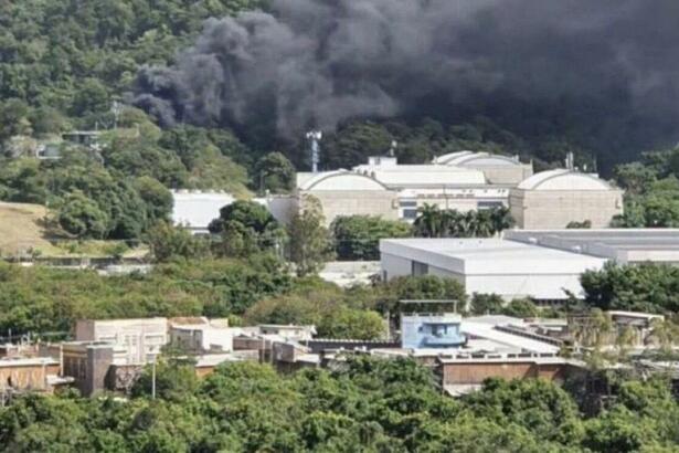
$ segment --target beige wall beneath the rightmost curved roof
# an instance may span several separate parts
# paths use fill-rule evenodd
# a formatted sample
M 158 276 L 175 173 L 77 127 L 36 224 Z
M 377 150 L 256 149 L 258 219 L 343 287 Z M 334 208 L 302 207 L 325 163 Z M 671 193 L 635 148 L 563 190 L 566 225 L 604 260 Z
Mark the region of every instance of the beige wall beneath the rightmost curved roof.
M 563 229 L 572 221 L 585 220 L 592 222 L 592 228 L 607 228 L 614 215 L 623 213 L 623 193 L 512 189 L 509 207 L 521 229 Z

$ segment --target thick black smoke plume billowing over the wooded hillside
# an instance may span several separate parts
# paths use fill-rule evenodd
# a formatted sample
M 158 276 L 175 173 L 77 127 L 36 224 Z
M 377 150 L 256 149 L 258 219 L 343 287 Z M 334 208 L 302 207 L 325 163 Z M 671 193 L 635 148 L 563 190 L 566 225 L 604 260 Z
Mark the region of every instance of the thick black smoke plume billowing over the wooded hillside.
M 616 155 L 679 136 L 678 24 L 677 0 L 272 0 L 145 67 L 136 104 L 280 137 L 480 114 Z

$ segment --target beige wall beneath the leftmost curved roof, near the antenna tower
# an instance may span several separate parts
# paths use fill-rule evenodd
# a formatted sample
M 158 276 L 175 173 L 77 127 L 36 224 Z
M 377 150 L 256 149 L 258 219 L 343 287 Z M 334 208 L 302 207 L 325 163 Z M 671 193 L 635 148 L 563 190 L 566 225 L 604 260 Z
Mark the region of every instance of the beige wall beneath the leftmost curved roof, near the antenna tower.
M 396 193 L 388 190 L 311 190 L 301 191 L 300 197 L 310 194 L 317 198 L 323 209 L 326 225 L 338 215 L 380 215 L 388 220 L 399 220 Z

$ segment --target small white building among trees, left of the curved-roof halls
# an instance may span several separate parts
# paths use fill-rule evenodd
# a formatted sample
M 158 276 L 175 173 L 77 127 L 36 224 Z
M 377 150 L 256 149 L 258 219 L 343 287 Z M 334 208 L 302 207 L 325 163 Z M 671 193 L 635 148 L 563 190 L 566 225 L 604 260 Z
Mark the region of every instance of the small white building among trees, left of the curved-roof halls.
M 235 201 L 226 192 L 183 189 L 172 191 L 172 222 L 185 227 L 194 234 L 208 234 L 208 227 L 220 217 L 220 210 Z

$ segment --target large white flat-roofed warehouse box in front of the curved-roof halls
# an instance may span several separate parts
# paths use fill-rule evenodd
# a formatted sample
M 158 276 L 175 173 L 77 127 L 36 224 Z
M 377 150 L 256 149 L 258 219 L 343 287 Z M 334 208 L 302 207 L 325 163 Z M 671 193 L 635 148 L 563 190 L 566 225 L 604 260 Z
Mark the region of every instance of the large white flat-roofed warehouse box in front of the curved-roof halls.
M 559 302 L 583 295 L 580 275 L 605 259 L 501 239 L 380 241 L 382 276 L 437 275 L 460 282 L 468 295 L 498 294 Z

